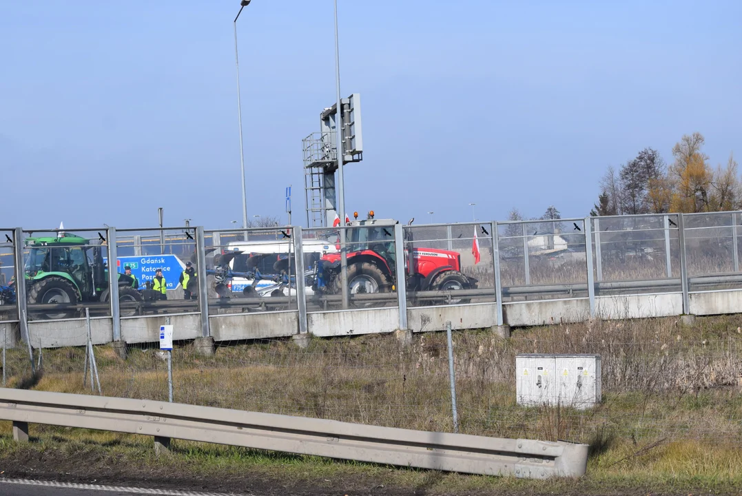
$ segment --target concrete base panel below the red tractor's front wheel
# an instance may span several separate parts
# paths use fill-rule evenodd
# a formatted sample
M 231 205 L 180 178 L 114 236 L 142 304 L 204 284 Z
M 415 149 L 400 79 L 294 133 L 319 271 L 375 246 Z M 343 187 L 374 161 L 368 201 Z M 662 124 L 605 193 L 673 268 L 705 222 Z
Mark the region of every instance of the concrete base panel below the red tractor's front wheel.
M 446 323 L 452 329 L 480 329 L 497 325 L 496 303 L 470 305 L 436 305 L 407 308 L 407 327 L 413 332 L 445 331 Z

